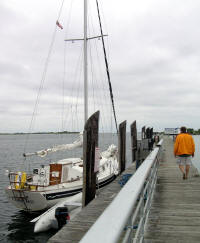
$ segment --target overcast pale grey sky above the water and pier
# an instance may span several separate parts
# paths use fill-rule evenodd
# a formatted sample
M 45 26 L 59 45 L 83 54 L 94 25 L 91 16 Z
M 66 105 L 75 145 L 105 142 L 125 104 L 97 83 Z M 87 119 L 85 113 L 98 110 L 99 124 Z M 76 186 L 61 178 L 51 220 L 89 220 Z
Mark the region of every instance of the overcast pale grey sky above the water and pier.
M 129 126 L 136 120 L 138 129 L 150 126 L 155 131 L 183 125 L 200 128 L 200 1 L 99 0 L 99 4 L 108 34 L 118 123 L 127 120 Z M 62 0 L 0 1 L 0 132 L 28 131 L 55 31 L 50 84 L 45 81 L 39 94 L 42 116 L 34 129 L 58 129 L 62 84 L 57 79 L 63 74 L 59 54 L 66 35 L 78 37 L 83 25 L 81 0 L 65 0 L 62 12 L 61 5 Z M 65 20 L 69 16 L 73 28 Z M 57 19 L 63 30 L 56 28 Z M 73 60 L 73 52 L 68 51 L 68 59 Z

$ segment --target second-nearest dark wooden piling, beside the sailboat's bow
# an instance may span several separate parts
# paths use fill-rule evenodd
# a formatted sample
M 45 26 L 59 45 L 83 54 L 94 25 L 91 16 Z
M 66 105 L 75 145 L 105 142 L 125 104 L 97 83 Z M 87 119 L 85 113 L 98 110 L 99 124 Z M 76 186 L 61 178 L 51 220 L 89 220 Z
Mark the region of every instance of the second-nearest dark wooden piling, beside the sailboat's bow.
M 126 121 L 119 125 L 119 171 L 120 174 L 126 168 Z

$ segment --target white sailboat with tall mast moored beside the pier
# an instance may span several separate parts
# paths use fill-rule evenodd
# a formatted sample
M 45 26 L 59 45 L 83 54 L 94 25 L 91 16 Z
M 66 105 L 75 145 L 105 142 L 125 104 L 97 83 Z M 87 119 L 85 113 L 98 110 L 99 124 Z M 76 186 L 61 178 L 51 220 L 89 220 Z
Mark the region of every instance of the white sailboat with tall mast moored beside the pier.
M 96 4 L 101 34 L 90 38 L 87 34 L 87 0 L 84 0 L 84 38 L 81 39 L 81 41 L 84 42 L 84 121 L 86 122 L 88 119 L 87 45 L 89 40 L 100 38 L 102 40 L 106 72 L 108 75 L 112 110 L 116 122 L 112 87 L 105 53 L 104 35 L 97 0 Z M 56 21 L 56 25 L 62 27 L 58 21 Z M 24 153 L 24 157 L 45 157 L 46 155 L 57 151 L 81 148 L 82 144 L 83 135 L 80 133 L 79 138 L 70 144 L 57 145 L 36 152 Z M 96 186 L 101 188 L 113 181 L 119 173 L 117 146 L 111 144 L 107 150 L 102 153 L 99 152 L 99 160 L 97 173 L 98 182 Z M 37 212 L 50 208 L 61 201 L 65 201 L 67 204 L 68 200 L 71 202 L 71 198 L 74 195 L 80 195 L 83 187 L 83 160 L 82 158 L 64 158 L 58 161 L 53 161 L 48 165 L 34 168 L 32 172 L 23 170 L 8 171 L 8 178 L 10 184 L 5 189 L 5 192 L 9 201 L 17 208 L 24 211 Z M 79 201 L 81 203 L 81 198 L 79 198 Z

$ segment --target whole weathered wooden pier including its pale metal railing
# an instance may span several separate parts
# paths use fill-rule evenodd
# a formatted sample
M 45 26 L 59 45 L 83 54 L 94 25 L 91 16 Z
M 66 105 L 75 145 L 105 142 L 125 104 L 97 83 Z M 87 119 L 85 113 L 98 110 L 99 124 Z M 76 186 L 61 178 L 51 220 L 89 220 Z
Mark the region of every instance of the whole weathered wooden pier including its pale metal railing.
M 133 163 L 49 243 L 196 243 L 200 242 L 200 177 L 191 166 L 183 180 L 173 155 L 173 140 L 136 170 Z M 121 187 L 124 174 L 133 174 Z

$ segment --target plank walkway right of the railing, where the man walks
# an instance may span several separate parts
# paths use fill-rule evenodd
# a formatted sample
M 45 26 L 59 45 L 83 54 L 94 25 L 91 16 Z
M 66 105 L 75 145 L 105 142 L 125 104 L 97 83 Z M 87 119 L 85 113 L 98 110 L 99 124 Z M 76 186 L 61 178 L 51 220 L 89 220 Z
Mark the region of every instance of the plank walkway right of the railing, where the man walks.
M 182 179 L 171 138 L 165 137 L 163 149 L 144 242 L 199 243 L 200 177 L 192 167 L 189 178 Z

